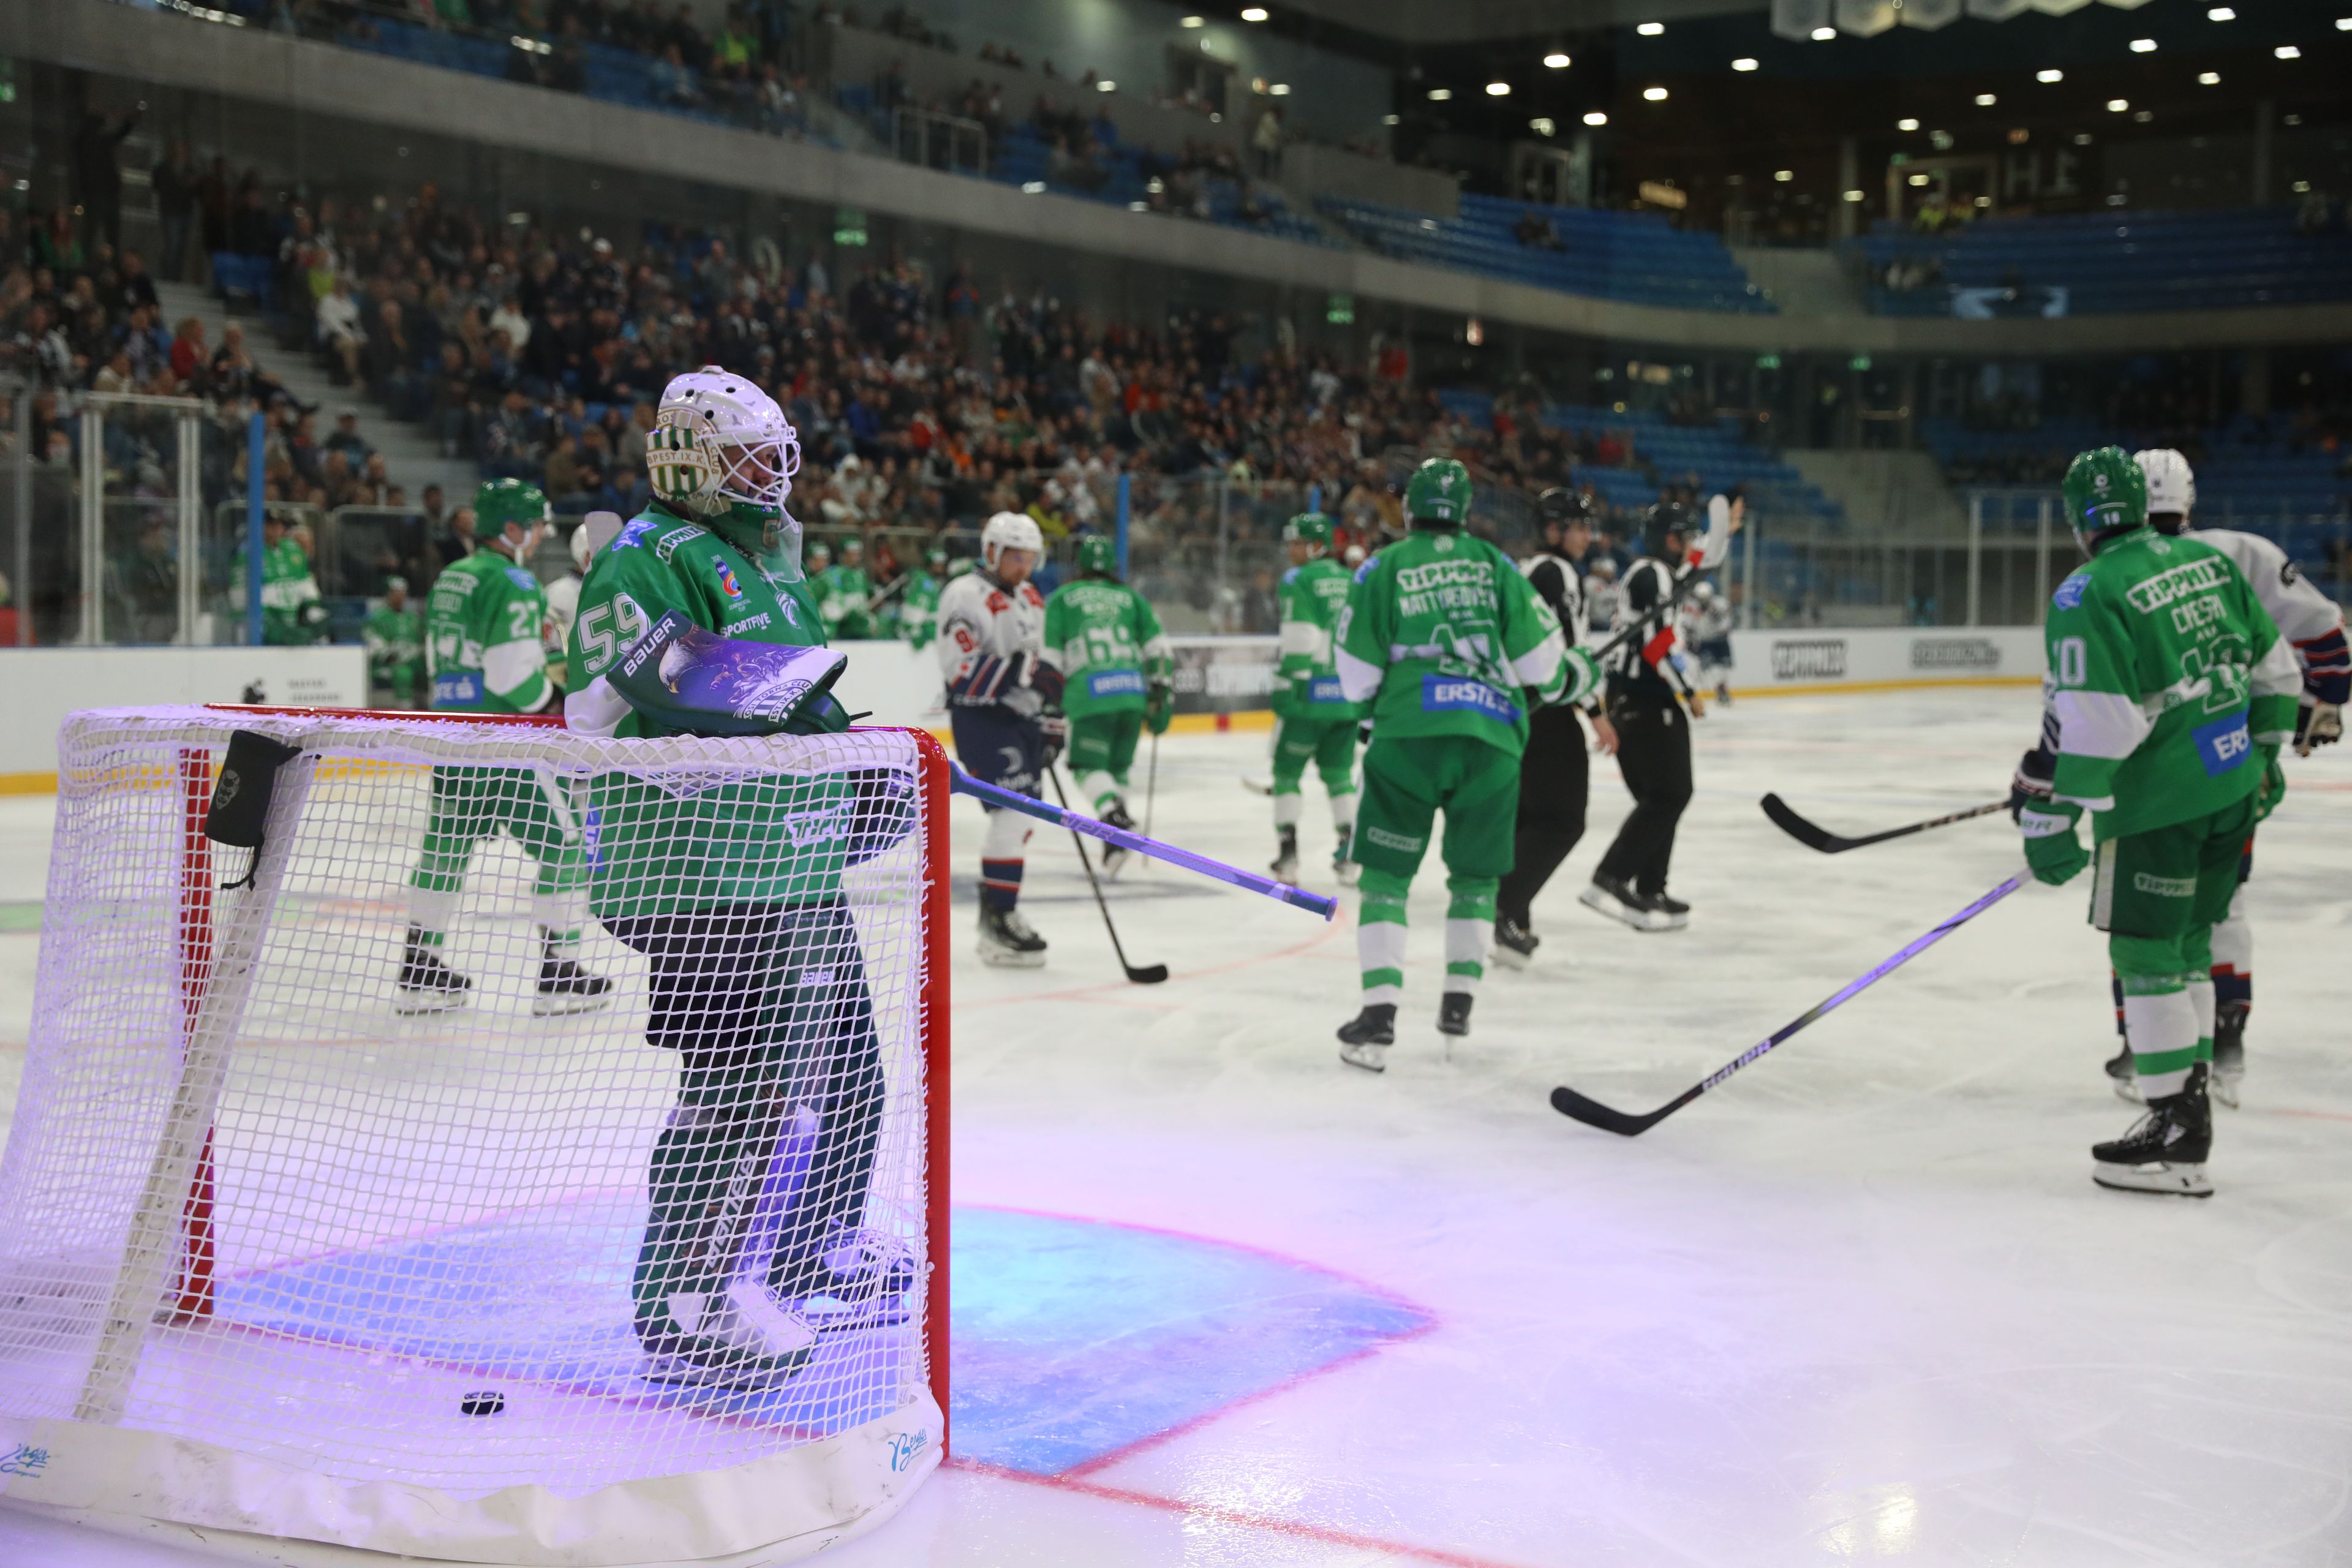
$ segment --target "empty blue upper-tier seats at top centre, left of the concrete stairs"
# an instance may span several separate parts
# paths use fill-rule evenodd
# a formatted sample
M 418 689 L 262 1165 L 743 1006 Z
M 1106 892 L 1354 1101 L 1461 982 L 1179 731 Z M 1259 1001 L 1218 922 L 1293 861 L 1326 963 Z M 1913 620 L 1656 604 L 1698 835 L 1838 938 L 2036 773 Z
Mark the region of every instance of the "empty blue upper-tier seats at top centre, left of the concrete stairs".
M 1404 207 L 1319 197 L 1324 216 L 1399 261 L 1508 277 L 1536 289 L 1618 299 L 1632 306 L 1771 313 L 1764 292 L 1710 233 L 1684 233 L 1653 212 L 1543 207 L 1494 195 L 1463 195 L 1458 219 Z M 1517 226 L 1536 214 L 1559 249 L 1522 244 Z

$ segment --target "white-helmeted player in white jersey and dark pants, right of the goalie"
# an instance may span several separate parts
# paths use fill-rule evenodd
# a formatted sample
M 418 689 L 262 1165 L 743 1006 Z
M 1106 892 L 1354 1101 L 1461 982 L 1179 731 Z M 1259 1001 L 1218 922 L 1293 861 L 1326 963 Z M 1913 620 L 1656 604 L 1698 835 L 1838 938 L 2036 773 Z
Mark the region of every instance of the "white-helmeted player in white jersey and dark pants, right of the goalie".
M 1037 522 L 997 512 L 981 529 L 981 569 L 938 595 L 938 672 L 964 769 L 993 785 L 1037 795 L 1061 755 L 1063 675 L 1044 658 L 1044 597 L 1030 583 L 1044 557 Z M 981 844 L 981 959 L 1007 969 L 1044 964 L 1044 938 L 1021 919 L 1021 865 L 1030 818 L 985 806 Z

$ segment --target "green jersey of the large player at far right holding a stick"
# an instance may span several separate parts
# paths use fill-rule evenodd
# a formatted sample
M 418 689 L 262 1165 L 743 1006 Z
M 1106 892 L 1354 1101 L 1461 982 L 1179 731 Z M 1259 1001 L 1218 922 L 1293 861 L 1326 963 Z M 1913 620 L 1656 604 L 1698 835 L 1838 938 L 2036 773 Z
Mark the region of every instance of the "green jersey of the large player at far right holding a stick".
M 2263 780 L 2258 748 L 2296 733 L 2293 646 L 2220 550 L 2194 534 L 2105 541 L 2049 611 L 2058 773 L 2093 839 L 2232 806 Z

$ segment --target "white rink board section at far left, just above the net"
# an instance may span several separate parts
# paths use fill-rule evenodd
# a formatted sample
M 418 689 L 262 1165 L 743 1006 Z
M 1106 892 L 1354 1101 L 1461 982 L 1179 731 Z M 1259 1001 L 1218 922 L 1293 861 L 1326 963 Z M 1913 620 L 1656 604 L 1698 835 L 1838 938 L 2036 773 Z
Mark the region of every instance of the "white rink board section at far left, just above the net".
M 0 651 L 0 776 L 56 773 L 56 726 L 82 708 L 242 703 L 367 708 L 367 649 Z

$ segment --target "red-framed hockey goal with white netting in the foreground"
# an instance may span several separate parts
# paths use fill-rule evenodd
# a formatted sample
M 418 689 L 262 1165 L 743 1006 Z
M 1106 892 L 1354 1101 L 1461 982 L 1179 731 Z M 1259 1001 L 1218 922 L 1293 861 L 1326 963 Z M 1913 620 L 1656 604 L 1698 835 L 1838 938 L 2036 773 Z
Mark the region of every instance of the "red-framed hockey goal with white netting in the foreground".
M 934 741 L 141 708 L 59 752 L 9 1500 L 640 1563 L 830 1544 L 938 1462 Z

